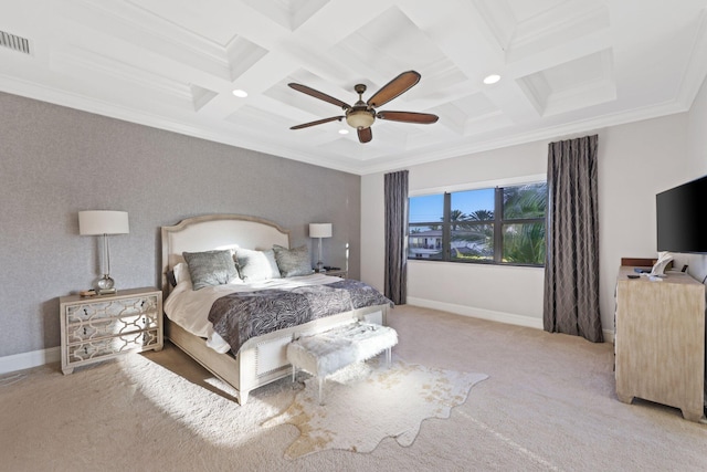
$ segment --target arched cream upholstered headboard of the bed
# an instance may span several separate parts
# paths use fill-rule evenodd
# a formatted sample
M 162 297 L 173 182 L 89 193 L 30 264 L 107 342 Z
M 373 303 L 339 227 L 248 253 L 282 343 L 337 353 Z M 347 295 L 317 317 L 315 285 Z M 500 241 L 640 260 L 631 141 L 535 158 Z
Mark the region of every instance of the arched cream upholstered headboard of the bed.
M 181 255 L 184 251 L 265 250 L 273 244 L 289 248 L 289 231 L 272 221 L 242 214 L 204 214 L 162 227 L 162 292 L 165 296 L 169 294 L 167 273 L 184 261 Z

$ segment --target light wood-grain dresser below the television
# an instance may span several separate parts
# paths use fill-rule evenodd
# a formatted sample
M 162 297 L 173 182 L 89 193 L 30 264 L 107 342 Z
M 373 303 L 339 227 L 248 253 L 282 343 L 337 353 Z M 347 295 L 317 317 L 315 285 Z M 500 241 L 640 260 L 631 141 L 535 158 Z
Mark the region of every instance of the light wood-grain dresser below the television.
M 622 266 L 616 282 L 616 396 L 679 408 L 699 421 L 705 395 L 705 285 L 682 272 L 661 281 Z

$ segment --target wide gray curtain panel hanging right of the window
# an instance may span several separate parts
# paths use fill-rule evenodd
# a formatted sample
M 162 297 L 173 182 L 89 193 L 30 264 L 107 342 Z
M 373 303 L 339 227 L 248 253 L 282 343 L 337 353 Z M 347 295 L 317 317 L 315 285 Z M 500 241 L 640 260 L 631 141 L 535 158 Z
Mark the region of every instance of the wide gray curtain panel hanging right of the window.
M 599 313 L 598 136 L 548 151 L 545 331 L 603 342 Z

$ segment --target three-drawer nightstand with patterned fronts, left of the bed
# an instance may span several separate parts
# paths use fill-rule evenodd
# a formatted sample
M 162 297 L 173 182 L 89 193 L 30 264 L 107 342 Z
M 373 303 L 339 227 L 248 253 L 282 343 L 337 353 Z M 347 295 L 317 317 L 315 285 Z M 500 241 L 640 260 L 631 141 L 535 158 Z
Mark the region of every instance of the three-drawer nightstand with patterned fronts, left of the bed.
M 162 292 L 158 289 L 62 296 L 59 303 L 64 374 L 126 353 L 162 348 Z

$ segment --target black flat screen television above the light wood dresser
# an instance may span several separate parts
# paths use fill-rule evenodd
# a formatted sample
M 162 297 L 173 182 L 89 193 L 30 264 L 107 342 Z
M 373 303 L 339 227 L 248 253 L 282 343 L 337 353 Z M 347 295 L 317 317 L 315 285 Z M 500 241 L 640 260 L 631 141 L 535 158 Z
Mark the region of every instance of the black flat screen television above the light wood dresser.
M 707 253 L 707 176 L 655 196 L 657 250 Z

